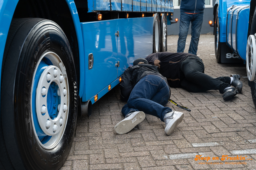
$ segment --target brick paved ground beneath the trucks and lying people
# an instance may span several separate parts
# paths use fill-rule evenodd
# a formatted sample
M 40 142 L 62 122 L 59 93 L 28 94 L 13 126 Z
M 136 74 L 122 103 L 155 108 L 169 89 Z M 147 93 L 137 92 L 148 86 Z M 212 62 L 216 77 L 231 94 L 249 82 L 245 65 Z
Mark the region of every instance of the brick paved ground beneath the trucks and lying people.
M 177 40 L 176 35 L 168 36 L 168 51 L 176 52 Z M 151 115 L 146 115 L 137 129 L 118 135 L 113 127 L 124 118 L 121 109 L 125 103 L 119 100 L 119 86 L 116 86 L 93 105 L 91 117 L 78 117 L 74 143 L 62 170 L 256 169 L 256 110 L 246 66 L 217 64 L 213 42 L 213 35 L 200 37 L 198 56 L 205 64 L 205 73 L 213 77 L 240 74 L 244 84 L 242 94 L 224 101 L 216 90 L 190 93 L 172 88 L 171 99 L 192 110 L 188 112 L 168 104 L 185 113 L 172 135 L 167 136 L 164 123 Z M 196 155 L 211 159 L 195 161 Z M 246 161 L 212 160 L 222 155 L 242 155 Z M 232 164 L 234 162 L 244 164 Z

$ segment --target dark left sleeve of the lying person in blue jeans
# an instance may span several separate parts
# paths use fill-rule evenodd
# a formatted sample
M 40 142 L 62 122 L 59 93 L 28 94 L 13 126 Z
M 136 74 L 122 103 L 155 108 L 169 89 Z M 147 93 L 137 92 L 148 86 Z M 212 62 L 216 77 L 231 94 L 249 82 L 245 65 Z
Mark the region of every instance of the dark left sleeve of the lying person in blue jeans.
M 132 82 L 132 71 L 128 67 L 123 74 L 122 81 L 120 82 L 120 99 L 127 101 L 129 99 L 130 93 L 133 89 Z

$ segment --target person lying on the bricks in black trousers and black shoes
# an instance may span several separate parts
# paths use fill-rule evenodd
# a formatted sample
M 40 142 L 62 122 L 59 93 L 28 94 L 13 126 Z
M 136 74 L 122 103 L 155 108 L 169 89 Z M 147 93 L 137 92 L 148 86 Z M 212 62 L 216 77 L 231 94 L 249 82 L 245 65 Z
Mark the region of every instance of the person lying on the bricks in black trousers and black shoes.
M 243 83 L 238 74 L 212 78 L 204 74 L 204 63 L 196 55 L 161 52 L 148 55 L 146 60 L 160 68 L 160 73 L 173 88 L 182 87 L 195 93 L 219 90 L 224 100 L 230 100 L 242 91 Z

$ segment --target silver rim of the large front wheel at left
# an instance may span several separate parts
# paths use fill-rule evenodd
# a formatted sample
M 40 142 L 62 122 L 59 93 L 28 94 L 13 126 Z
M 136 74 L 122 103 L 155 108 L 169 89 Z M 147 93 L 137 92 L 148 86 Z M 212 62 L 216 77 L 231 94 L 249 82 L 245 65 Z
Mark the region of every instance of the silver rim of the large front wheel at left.
M 42 131 L 46 135 L 50 136 L 50 140 L 48 140 L 46 143 L 41 143 L 38 136 L 36 136 L 38 143 L 44 149 L 50 150 L 50 149 L 54 149 L 54 147 L 58 145 L 58 143 L 60 142 L 60 140 L 64 135 L 64 131 L 65 131 L 67 120 L 68 120 L 68 111 L 69 111 L 69 107 L 68 107 L 69 106 L 69 87 L 68 87 L 68 78 L 66 77 L 65 67 L 62 64 L 60 57 L 56 53 L 51 51 L 44 53 L 40 57 L 36 65 L 36 70 L 38 69 L 40 62 L 44 57 L 50 60 L 52 65 L 47 66 L 42 72 L 42 74 L 40 75 L 40 79 L 36 89 L 37 120 L 34 120 L 32 115 L 32 123 L 33 123 L 33 130 L 36 135 L 37 135 L 37 131 L 36 131 L 34 121 L 38 121 L 40 125 L 40 129 L 42 129 Z M 36 70 L 33 76 L 32 86 L 34 86 Z M 55 95 L 58 95 L 58 97 L 60 98 L 60 104 L 56 106 L 58 107 L 58 115 L 54 117 L 54 119 L 50 118 L 48 109 L 47 109 L 48 108 L 47 107 L 48 90 L 49 90 L 49 86 L 53 82 L 58 85 L 58 92 Z M 31 92 L 31 96 L 32 96 L 32 93 L 33 93 L 33 90 Z M 32 112 L 33 111 L 31 111 L 31 113 Z

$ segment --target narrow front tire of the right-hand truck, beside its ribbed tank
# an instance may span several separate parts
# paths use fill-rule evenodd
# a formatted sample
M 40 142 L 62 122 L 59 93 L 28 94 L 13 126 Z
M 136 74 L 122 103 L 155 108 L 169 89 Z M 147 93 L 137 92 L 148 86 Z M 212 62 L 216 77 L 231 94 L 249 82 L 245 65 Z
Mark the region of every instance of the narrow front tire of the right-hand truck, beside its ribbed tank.
M 214 47 L 215 47 L 215 57 L 217 63 L 220 62 L 220 24 L 219 24 L 219 18 L 218 18 L 218 9 L 216 9 L 216 14 L 215 14 L 215 24 L 214 24 Z

